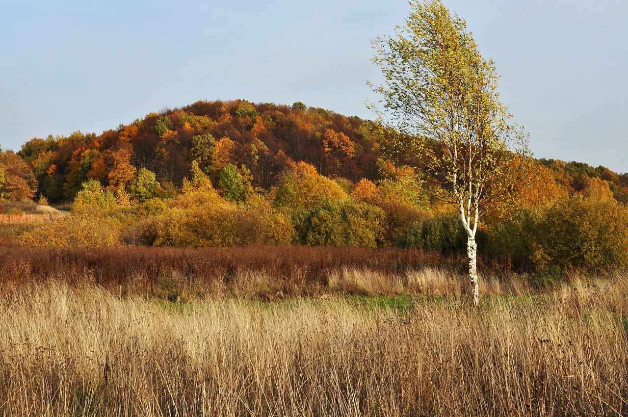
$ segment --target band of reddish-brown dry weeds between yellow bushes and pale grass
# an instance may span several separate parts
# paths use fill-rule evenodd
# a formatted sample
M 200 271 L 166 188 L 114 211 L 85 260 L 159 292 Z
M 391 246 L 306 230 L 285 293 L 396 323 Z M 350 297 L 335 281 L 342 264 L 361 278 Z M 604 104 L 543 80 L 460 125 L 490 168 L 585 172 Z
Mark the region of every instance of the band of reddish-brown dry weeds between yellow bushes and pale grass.
M 126 295 L 165 291 L 171 296 L 241 296 L 244 294 L 230 289 L 242 287 L 254 276 L 268 284 L 260 293 L 268 298 L 278 292 L 286 296 L 317 295 L 328 286 L 330 275 L 343 269 L 364 269 L 391 281 L 428 265 L 453 270 L 455 263 L 455 259 L 438 254 L 397 248 L 0 247 L 0 283 L 20 286 L 53 277 L 69 284 L 94 283 Z

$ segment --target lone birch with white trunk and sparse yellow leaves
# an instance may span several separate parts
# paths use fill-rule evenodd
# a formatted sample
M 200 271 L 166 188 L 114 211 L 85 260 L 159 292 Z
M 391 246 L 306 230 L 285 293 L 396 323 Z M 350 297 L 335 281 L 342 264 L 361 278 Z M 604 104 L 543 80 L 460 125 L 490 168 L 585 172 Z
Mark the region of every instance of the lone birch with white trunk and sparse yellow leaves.
M 509 124 L 497 92 L 499 75 L 480 55 L 466 24 L 439 0 L 411 3 L 404 26 L 373 41 L 385 82 L 379 104 L 367 103 L 399 132 L 386 144 L 419 168 L 436 198 L 451 203 L 467 232 L 468 275 L 479 304 L 475 234 L 486 205 L 517 180 L 525 138 Z

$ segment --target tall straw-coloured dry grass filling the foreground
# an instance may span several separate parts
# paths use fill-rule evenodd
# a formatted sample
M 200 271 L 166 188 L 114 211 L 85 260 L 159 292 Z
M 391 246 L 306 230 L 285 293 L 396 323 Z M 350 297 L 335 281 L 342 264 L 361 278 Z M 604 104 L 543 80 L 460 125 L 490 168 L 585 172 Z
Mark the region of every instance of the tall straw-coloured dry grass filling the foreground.
M 479 309 L 415 298 L 401 311 L 340 297 L 166 303 L 54 281 L 5 286 L 0 414 L 625 415 L 626 282 L 491 296 Z

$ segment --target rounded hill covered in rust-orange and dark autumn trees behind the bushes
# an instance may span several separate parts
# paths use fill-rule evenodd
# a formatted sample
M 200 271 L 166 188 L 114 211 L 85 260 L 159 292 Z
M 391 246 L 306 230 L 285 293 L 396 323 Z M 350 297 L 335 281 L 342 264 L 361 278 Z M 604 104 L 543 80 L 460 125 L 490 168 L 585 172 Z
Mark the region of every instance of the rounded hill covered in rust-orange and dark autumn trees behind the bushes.
M 349 187 L 362 178 L 377 183 L 397 175 L 381 158 L 384 140 L 372 122 L 301 102 L 198 101 L 100 135 L 31 139 L 18 152 L 26 164 L 17 163 L 10 152 L 2 154 L 0 168 L 8 167 L 7 178 L 19 180 L 11 185 L 18 192 L 4 190 L 2 197 L 72 201 L 89 178 L 112 190 L 128 189 L 142 168 L 154 173 L 162 188 L 174 189 L 190 177 L 194 161 L 219 190 L 221 173 L 239 176 L 251 189 L 269 190 L 299 161 L 323 176 L 347 180 Z M 539 163 L 541 188 L 549 180 L 568 195 L 612 193 L 619 202 L 628 201 L 627 174 L 578 162 Z

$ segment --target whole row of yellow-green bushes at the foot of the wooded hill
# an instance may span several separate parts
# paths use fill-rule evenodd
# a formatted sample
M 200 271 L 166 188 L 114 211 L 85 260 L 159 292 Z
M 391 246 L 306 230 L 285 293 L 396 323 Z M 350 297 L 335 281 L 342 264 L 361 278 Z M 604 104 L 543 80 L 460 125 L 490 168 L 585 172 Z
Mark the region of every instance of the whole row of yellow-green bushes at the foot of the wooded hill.
M 455 212 L 429 214 L 401 197 L 382 196 L 367 180 L 350 196 L 315 168 L 295 163 L 269 195 L 248 190 L 225 198 L 192 164 L 180 193 L 150 192 L 122 203 L 97 180 L 82 184 L 72 213 L 27 230 L 23 246 L 104 247 L 122 244 L 232 247 L 276 244 L 382 247 L 426 253 L 465 253 L 467 236 Z M 139 182 L 138 182 L 139 185 Z M 154 185 L 154 189 L 153 189 Z M 223 184 L 224 185 L 224 184 Z M 349 181 L 345 186 L 350 187 Z M 224 187 L 223 187 L 224 188 Z M 139 188 L 138 188 L 139 190 Z M 604 272 L 628 268 L 628 209 L 608 190 L 511 210 L 482 224 L 477 240 L 484 262 L 540 273 Z M 225 192 L 225 189 L 222 190 Z M 240 199 L 239 201 L 236 201 Z

